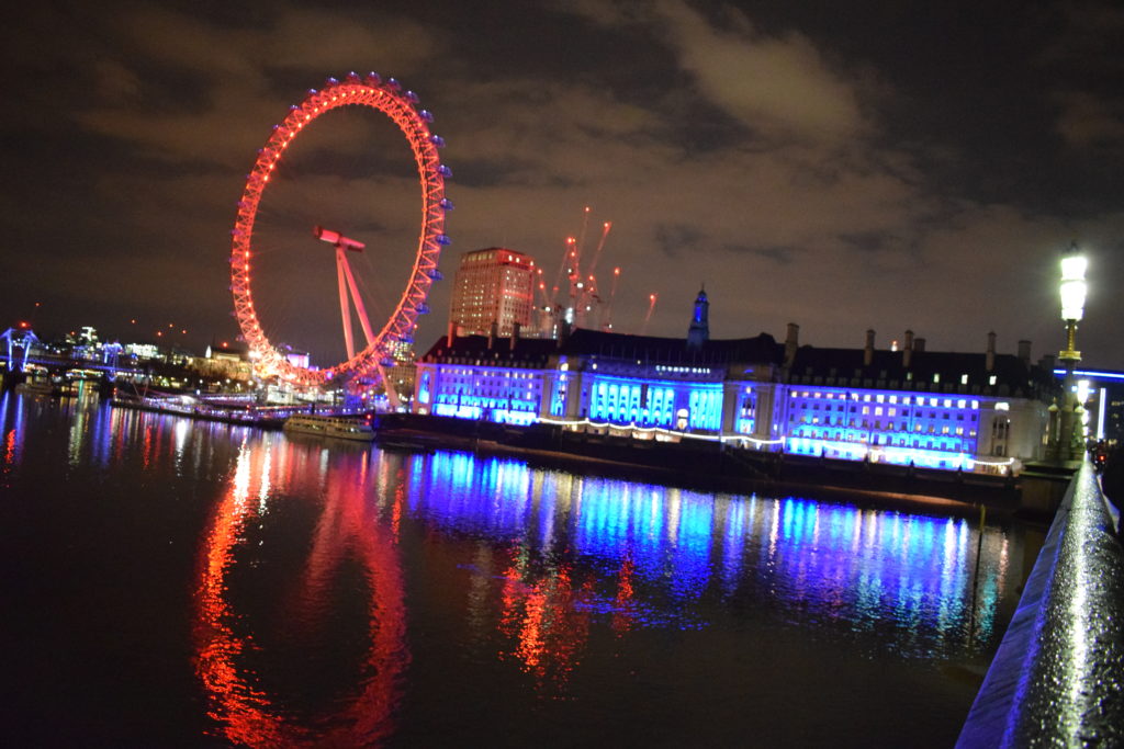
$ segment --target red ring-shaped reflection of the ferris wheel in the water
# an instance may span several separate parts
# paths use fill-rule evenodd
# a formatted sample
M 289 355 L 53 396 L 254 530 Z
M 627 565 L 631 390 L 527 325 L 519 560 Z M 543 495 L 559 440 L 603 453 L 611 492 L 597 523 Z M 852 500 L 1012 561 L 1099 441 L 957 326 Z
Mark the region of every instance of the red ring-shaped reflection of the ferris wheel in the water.
M 272 466 L 265 459 L 270 449 L 282 454 Z M 227 600 L 226 577 L 238 564 L 235 550 L 246 541 L 248 522 L 259 513 L 259 504 L 251 497 L 257 496 L 264 481 L 275 484 L 288 474 L 296 462 L 291 453 L 299 449 L 290 444 L 272 448 L 243 445 L 230 488 L 203 540 L 193 628 L 196 670 L 207 691 L 208 715 L 221 727 L 226 740 L 254 747 L 365 746 L 390 734 L 398 684 L 409 660 L 401 567 L 390 535 L 368 509 L 363 482 L 356 481 L 365 477 L 365 465 L 356 472 L 353 464 L 345 464 L 326 477 L 324 512 L 294 595 L 299 609 L 291 612 L 293 621 L 314 619 L 315 613 L 308 614 L 328 605 L 325 596 L 332 590 L 330 578 L 344 558 L 354 556 L 361 561 L 371 600 L 370 648 L 359 688 L 336 700 L 339 707 L 333 714 L 301 723 L 283 714 L 280 696 L 260 688 L 256 675 L 239 665 L 239 656 L 260 646 L 252 634 L 235 632 L 234 624 L 244 620 Z

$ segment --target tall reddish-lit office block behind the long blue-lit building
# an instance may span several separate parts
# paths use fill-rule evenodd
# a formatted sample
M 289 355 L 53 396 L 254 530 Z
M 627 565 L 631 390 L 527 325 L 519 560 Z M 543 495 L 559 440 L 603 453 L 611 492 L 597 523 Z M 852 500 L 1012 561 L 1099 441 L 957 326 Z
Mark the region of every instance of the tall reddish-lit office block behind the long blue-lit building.
M 453 284 L 450 322 L 457 336 L 487 336 L 495 322 L 508 337 L 518 322 L 529 331 L 534 311 L 535 261 L 504 247 L 461 256 Z

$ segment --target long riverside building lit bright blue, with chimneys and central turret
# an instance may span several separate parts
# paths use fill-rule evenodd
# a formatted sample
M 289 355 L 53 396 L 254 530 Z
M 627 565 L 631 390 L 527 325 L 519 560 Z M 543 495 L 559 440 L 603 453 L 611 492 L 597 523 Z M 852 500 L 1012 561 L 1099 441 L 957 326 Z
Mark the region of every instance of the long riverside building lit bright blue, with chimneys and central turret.
M 602 435 L 962 471 L 1042 457 L 1049 369 L 998 354 L 710 340 L 706 298 L 688 340 L 579 329 L 566 339 L 450 336 L 418 362 L 414 411 Z M 699 317 L 701 314 L 701 317 Z M 703 325 L 698 325 L 703 323 Z

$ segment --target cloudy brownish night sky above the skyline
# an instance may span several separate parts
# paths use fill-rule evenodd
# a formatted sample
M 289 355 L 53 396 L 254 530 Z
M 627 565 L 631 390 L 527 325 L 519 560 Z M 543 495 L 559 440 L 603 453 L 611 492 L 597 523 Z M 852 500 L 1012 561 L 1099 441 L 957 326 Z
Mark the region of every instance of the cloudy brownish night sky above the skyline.
M 0 327 L 232 338 L 229 231 L 273 124 L 328 75 L 416 91 L 454 172 L 444 331 L 461 253 L 501 245 L 553 276 L 620 266 L 614 321 L 711 336 L 931 350 L 1063 344 L 1059 254 L 1090 258 L 1078 348 L 1124 368 L 1124 8 L 1108 2 L 24 3 L 4 19 Z M 372 317 L 416 246 L 405 139 L 371 110 L 308 128 L 260 214 L 266 330 L 342 348 L 324 223 Z M 299 146 L 299 148 L 298 148 Z M 604 281 L 602 281 L 604 285 Z M 36 307 L 38 303 L 38 307 Z M 136 319 L 134 325 L 132 320 Z M 174 328 L 169 328 L 172 323 Z M 179 330 L 185 329 L 187 334 Z M 167 337 L 164 340 L 167 340 Z

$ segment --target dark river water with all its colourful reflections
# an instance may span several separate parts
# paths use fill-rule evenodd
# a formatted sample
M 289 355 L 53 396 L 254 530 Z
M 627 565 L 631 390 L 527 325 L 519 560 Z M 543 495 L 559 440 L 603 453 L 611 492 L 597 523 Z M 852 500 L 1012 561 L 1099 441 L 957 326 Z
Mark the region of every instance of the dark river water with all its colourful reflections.
M 1041 531 L 942 512 L 6 393 L 0 739 L 949 747 Z

